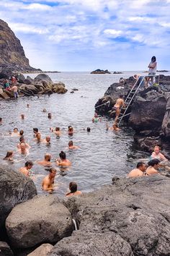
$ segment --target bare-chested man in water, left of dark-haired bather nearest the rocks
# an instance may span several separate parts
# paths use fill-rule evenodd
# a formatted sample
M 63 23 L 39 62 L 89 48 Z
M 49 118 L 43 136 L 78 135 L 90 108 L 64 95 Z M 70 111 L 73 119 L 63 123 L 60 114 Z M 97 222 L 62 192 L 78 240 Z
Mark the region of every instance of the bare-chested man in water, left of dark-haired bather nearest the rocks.
M 50 168 L 50 173 L 42 180 L 42 190 L 52 193 L 54 190 L 54 179 L 57 171 L 55 168 Z

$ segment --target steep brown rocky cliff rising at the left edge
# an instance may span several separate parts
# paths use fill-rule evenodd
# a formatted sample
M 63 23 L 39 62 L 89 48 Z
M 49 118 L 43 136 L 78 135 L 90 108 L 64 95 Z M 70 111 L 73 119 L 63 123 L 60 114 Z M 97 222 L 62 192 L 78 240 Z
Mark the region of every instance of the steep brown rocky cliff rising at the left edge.
M 34 71 L 24 54 L 20 40 L 14 35 L 6 22 L 0 20 L 0 72 Z

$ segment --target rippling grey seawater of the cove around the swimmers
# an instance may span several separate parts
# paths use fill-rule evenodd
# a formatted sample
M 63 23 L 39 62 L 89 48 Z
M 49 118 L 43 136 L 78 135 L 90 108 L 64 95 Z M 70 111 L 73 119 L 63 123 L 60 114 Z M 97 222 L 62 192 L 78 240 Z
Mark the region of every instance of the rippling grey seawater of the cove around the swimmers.
M 129 77 L 134 72 L 126 72 L 123 77 Z M 35 77 L 37 74 L 31 74 Z M 25 161 L 42 160 L 45 153 L 51 153 L 53 161 L 58 158 L 61 150 L 66 149 L 68 141 L 73 140 L 79 150 L 67 150 L 66 156 L 71 161 L 72 166 L 65 176 L 58 176 L 55 183 L 58 184 L 58 195 L 65 195 L 68 184 L 71 181 L 78 183 L 79 189 L 89 192 L 102 184 L 110 184 L 112 176 L 125 176 L 131 168 L 135 166 L 138 158 L 144 158 L 147 153 L 143 153 L 135 148 L 133 144 L 133 132 L 130 129 L 122 129 L 120 132 L 106 131 L 107 119 L 102 119 L 101 123 L 91 122 L 94 116 L 94 105 L 99 98 L 104 95 L 109 85 L 117 82 L 122 74 L 89 74 L 87 72 L 63 72 L 49 74 L 53 82 L 64 82 L 68 93 L 64 95 L 53 94 L 50 97 L 42 95 L 40 98 L 24 97 L 17 101 L 1 101 L 1 117 L 4 120 L 0 127 L 1 150 L 0 159 L 4 158 L 7 150 L 14 150 L 14 159 L 19 160 L 11 164 L 12 168 L 24 166 Z M 71 94 L 72 88 L 79 91 Z M 27 103 L 30 108 L 27 108 Z M 43 113 L 46 108 L 52 113 L 52 119 L 48 119 L 48 113 Z M 25 115 L 25 119 L 20 119 L 20 114 Z M 109 120 L 112 125 L 112 120 Z M 72 125 L 75 129 L 73 137 L 68 137 L 67 128 Z M 58 139 L 50 132 L 50 127 L 61 127 L 63 135 Z M 24 137 L 32 146 L 30 155 L 23 157 L 17 153 L 17 143 L 19 137 L 6 136 L 6 132 L 18 127 L 24 129 Z M 33 140 L 32 128 L 38 127 L 42 133 L 42 138 L 51 136 L 51 145 L 39 144 Z M 91 127 L 91 132 L 87 133 L 84 128 Z M 5 162 L 2 161 L 1 162 Z M 7 163 L 5 163 L 7 164 Z M 53 163 L 55 166 L 55 163 Z M 41 193 L 41 182 L 48 171 L 43 166 L 35 164 L 32 168 L 34 182 L 38 192 Z

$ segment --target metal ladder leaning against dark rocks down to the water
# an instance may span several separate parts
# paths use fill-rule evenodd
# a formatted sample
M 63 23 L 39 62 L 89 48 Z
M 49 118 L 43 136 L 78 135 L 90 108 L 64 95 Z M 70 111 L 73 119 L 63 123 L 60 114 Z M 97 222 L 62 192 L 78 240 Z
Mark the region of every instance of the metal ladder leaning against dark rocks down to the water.
M 142 77 L 142 79 L 141 79 L 141 77 Z M 128 108 L 129 108 L 131 102 L 133 101 L 133 98 L 135 97 L 135 94 L 137 93 L 138 89 L 140 88 L 140 85 L 143 83 L 144 79 L 145 79 L 145 77 L 140 76 L 138 78 L 138 80 L 136 80 L 135 84 L 133 85 L 133 88 L 130 90 L 130 93 L 128 93 L 128 96 L 125 99 L 125 107 L 122 106 L 122 108 L 120 108 L 120 116 L 118 117 L 119 121 L 117 123 L 118 127 L 119 127 L 123 117 L 130 115 L 130 113 L 128 113 L 128 114 L 126 114 L 126 113 L 128 111 Z M 140 80 L 140 82 L 139 82 L 139 80 Z M 139 85 L 138 85 L 138 82 L 139 82 Z M 138 85 L 137 88 L 135 88 L 136 85 Z

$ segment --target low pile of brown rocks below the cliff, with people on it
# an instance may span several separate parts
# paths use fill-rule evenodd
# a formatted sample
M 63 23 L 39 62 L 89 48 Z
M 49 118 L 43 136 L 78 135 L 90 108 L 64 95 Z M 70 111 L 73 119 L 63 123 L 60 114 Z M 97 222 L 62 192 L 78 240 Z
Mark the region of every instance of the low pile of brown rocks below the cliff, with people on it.
M 32 96 L 32 95 L 42 95 L 47 94 L 50 95 L 52 93 L 63 94 L 68 90 L 65 88 L 63 82 L 54 83 L 48 74 L 38 74 L 35 79 L 27 76 L 24 77 L 23 74 L 15 74 L 17 78 L 17 88 L 19 92 L 19 96 Z M 11 84 L 11 82 L 9 81 Z M 3 88 L 4 79 L 0 80 L 0 101 L 9 98 L 14 98 L 14 93 L 10 90 L 4 90 Z

